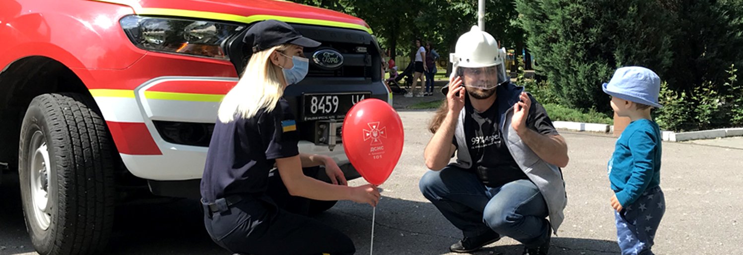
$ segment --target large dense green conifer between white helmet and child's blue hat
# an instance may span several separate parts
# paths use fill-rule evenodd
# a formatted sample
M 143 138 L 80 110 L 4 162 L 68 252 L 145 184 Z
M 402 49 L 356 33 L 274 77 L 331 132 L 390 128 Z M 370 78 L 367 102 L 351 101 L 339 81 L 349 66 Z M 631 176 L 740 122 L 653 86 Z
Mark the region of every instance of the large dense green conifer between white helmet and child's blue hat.
M 661 77 L 672 61 L 672 15 L 659 1 L 516 0 L 526 45 L 566 106 L 609 112 L 601 84 L 617 67 Z

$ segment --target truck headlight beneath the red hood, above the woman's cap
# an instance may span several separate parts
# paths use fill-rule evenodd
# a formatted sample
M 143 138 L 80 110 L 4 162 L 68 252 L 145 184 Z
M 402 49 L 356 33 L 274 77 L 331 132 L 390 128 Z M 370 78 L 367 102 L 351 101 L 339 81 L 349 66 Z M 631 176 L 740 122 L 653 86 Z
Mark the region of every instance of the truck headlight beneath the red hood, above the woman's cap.
M 244 26 L 183 18 L 130 15 L 119 21 L 134 45 L 147 51 L 228 59 L 222 43 Z

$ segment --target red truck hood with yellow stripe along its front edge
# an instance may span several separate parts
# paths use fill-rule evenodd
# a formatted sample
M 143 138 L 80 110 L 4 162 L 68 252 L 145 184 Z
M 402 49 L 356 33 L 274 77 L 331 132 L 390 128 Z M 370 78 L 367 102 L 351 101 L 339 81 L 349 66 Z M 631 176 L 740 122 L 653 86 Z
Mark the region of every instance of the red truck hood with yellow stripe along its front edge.
M 97 0 L 123 4 L 139 15 L 186 16 L 250 24 L 265 19 L 283 22 L 353 28 L 371 33 L 363 19 L 279 0 Z

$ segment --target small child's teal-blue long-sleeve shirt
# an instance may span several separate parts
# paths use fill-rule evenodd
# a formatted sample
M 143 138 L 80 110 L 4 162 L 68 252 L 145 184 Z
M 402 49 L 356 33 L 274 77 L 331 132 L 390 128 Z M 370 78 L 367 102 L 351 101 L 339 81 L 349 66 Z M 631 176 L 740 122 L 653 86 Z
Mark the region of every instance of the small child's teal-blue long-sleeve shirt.
M 661 184 L 661 151 L 661 129 L 652 120 L 635 120 L 624 129 L 607 167 L 622 207 Z

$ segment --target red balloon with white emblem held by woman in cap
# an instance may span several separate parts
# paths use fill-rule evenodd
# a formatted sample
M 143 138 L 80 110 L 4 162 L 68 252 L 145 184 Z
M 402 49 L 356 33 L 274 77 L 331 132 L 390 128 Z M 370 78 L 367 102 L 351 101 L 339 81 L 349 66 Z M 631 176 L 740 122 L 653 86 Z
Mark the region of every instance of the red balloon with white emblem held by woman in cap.
M 383 100 L 356 103 L 343 120 L 341 138 L 348 160 L 370 184 L 389 178 L 403 153 L 403 121 Z

